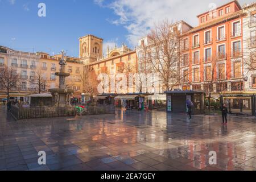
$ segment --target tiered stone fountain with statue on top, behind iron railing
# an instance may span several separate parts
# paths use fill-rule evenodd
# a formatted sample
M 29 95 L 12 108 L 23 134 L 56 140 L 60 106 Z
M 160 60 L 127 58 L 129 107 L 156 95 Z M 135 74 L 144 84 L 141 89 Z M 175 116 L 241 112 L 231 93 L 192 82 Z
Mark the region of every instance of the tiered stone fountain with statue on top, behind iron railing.
M 68 89 L 66 85 L 66 77 L 70 76 L 69 73 L 65 73 L 65 65 L 67 64 L 65 61 L 65 53 L 61 51 L 62 57 L 59 61 L 60 64 L 60 72 L 55 73 L 56 76 L 59 76 L 60 84 L 59 88 L 57 89 L 49 89 L 49 92 L 52 93 L 52 98 L 55 102 L 55 106 L 59 107 L 69 107 L 71 106 L 70 100 L 71 96 L 73 95 L 74 90 Z

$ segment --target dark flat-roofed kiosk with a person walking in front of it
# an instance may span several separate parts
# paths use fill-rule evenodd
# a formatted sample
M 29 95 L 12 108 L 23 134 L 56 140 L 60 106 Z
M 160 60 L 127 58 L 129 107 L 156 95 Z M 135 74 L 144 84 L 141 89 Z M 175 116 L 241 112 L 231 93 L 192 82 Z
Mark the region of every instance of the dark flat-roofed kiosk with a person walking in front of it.
M 168 91 L 166 92 L 166 110 L 172 113 L 187 113 L 187 100 L 193 103 L 193 114 L 204 113 L 205 92 L 200 91 Z

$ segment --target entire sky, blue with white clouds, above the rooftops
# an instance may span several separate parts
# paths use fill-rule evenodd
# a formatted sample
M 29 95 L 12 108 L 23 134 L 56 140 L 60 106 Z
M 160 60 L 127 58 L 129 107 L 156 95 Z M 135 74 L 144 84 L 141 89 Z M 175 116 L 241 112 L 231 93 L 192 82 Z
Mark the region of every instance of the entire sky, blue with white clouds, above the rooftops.
M 46 4 L 46 17 L 38 16 L 40 2 Z M 226 2 L 229 0 L 0 0 L 0 45 L 50 54 L 64 49 L 69 56 L 78 56 L 79 37 L 93 34 L 104 39 L 104 48 L 115 43 L 134 48 L 155 22 L 183 19 L 196 26 L 197 14 Z

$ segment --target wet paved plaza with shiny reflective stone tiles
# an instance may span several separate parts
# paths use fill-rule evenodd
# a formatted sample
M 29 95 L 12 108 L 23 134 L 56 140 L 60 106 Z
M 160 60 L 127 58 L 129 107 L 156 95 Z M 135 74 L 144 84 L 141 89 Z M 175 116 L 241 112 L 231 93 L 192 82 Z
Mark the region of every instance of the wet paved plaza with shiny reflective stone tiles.
M 256 170 L 256 120 L 117 110 L 15 122 L 0 109 L 1 170 Z M 38 151 L 47 165 L 39 166 Z M 209 151 L 217 152 L 210 165 Z

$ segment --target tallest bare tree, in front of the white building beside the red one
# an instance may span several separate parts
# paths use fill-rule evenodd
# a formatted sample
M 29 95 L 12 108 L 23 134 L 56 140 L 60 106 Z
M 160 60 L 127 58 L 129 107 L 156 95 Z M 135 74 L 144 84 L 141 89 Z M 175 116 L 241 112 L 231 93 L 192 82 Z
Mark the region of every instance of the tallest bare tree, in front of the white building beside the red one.
M 151 31 L 151 45 L 145 48 L 147 69 L 159 75 L 164 90 L 172 90 L 183 79 L 180 73 L 180 32 L 166 20 Z

